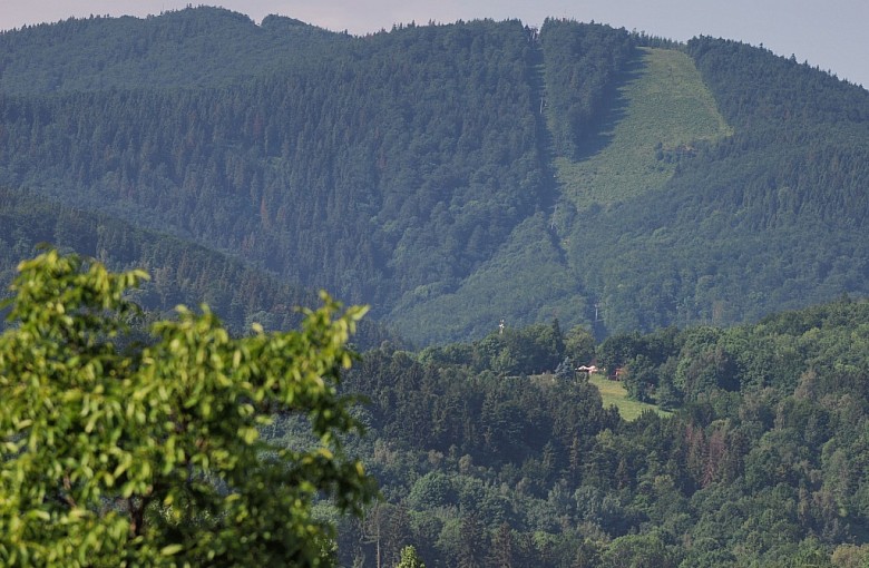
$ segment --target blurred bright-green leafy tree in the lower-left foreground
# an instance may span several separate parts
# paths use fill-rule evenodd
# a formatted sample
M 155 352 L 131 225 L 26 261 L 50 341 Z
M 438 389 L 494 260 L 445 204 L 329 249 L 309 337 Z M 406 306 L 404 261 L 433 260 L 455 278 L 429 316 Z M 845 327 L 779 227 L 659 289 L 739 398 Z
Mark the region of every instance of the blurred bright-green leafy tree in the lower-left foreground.
M 21 263 L 0 336 L 0 565 L 328 566 L 330 497 L 361 512 L 373 479 L 344 454 L 339 396 L 364 307 L 233 339 L 206 306 L 134 341 L 125 294 L 147 278 L 48 251 Z M 276 414 L 316 442 L 270 444 Z

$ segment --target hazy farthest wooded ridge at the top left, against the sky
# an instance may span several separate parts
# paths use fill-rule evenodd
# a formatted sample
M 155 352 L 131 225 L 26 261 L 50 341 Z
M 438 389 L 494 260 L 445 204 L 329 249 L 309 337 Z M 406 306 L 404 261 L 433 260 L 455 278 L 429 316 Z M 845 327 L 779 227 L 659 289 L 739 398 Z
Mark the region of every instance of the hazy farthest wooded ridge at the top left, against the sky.
M 302 65 L 349 37 L 270 16 L 197 8 L 69 19 L 0 33 L 0 90 L 14 95 L 221 87 Z

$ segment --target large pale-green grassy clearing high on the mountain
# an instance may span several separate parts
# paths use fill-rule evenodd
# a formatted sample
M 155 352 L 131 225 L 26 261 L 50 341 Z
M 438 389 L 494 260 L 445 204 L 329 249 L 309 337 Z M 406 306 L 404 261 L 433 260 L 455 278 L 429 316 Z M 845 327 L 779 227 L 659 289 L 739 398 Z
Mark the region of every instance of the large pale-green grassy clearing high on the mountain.
M 626 75 L 587 143 L 588 157 L 555 159 L 562 194 L 577 209 L 661 187 L 675 172 L 675 157 L 690 153 L 693 141 L 732 134 L 694 61 L 682 51 L 643 48 Z

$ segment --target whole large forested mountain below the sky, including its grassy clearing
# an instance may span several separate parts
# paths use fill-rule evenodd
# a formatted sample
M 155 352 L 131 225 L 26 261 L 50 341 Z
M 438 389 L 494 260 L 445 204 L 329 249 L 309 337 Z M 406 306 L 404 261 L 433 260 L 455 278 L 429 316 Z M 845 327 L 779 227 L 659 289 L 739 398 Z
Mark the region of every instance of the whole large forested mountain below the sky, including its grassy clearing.
M 197 8 L 0 35 L 9 192 L 423 344 L 866 294 L 868 116 L 866 90 L 763 49 L 566 20 L 355 38 Z

